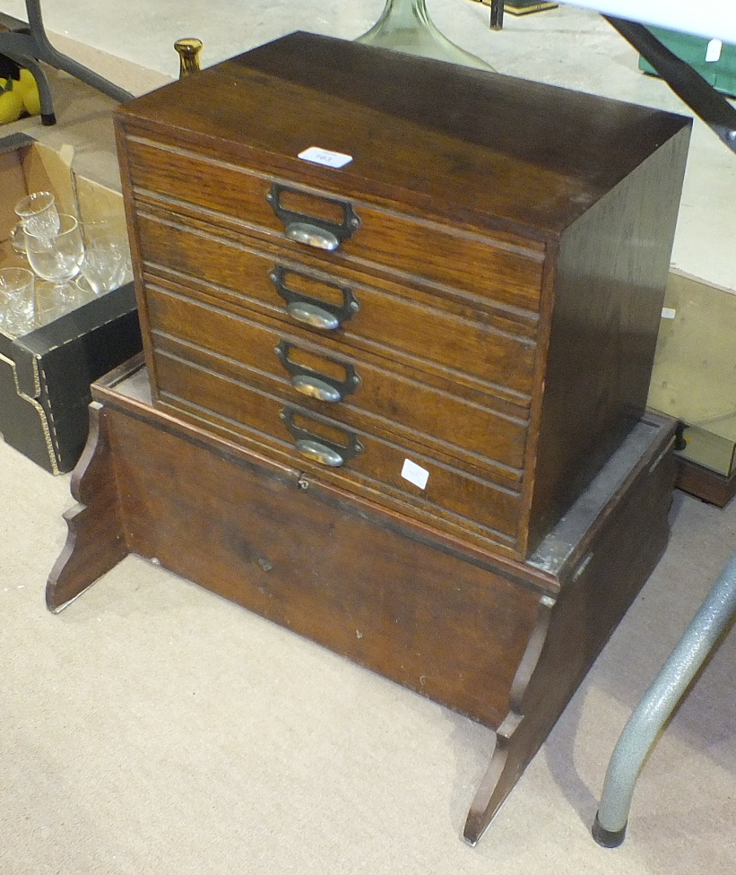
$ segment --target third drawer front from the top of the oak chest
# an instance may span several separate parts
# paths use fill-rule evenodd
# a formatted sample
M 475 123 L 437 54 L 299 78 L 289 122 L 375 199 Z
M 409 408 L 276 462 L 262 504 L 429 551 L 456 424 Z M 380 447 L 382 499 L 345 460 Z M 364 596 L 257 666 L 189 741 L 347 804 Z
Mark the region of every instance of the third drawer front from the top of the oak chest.
M 441 455 L 480 466 L 493 481 L 519 488 L 524 421 L 356 359 L 349 351 L 325 350 L 309 335 L 288 334 L 273 321 L 235 316 L 150 282 L 146 288 L 157 348 L 246 383 L 266 381 L 267 391 L 285 401 L 354 428 L 389 439 L 403 431 L 412 441 L 438 445 Z

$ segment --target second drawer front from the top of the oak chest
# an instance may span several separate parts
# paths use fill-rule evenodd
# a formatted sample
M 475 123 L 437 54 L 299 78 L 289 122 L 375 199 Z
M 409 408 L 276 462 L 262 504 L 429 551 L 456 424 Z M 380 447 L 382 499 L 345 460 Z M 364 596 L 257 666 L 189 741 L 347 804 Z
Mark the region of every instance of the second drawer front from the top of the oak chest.
M 343 342 L 388 360 L 403 357 L 422 370 L 482 387 L 520 408 L 528 408 L 536 344 L 533 337 L 499 330 L 488 312 L 441 309 L 442 299 L 403 297 L 351 273 L 326 274 L 277 255 L 264 255 L 209 233 L 138 217 L 144 266 L 180 274 L 229 308 L 255 309 L 316 336 Z M 279 291 L 281 289 L 281 291 Z M 336 325 L 319 329 L 298 318 L 299 302 L 333 315 Z M 357 306 L 352 308 L 351 304 Z M 434 303 L 435 306 L 432 306 Z M 293 315 L 292 314 L 297 314 Z

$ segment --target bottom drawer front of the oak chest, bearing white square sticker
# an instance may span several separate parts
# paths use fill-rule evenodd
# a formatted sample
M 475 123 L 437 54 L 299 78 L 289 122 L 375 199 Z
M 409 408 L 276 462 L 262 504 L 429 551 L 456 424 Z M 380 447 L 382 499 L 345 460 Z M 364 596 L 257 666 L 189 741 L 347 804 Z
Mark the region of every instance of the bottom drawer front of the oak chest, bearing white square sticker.
M 314 412 L 285 405 L 255 386 L 245 386 L 168 353 L 157 351 L 154 360 L 157 395 L 177 410 L 224 425 L 293 467 L 318 472 L 344 488 L 362 490 L 380 503 L 398 502 L 410 515 L 419 512 L 420 518 L 445 520 L 455 529 L 470 528 L 494 542 L 515 544 L 521 498 L 511 489 L 439 463 L 422 455 L 420 447 L 414 450 L 346 429 Z M 317 462 L 321 451 L 315 447 L 332 449 L 344 461 Z M 407 460 L 411 478 L 418 476 L 411 464 L 428 473 L 423 488 L 402 475 Z

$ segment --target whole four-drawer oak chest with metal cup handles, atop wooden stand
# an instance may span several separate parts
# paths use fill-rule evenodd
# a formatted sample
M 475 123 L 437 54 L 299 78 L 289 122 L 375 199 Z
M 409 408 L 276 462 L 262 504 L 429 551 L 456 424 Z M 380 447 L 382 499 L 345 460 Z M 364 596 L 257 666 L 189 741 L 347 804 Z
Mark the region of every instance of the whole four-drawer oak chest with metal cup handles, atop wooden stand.
M 160 408 L 516 559 L 638 420 L 689 119 L 295 33 L 116 124 Z

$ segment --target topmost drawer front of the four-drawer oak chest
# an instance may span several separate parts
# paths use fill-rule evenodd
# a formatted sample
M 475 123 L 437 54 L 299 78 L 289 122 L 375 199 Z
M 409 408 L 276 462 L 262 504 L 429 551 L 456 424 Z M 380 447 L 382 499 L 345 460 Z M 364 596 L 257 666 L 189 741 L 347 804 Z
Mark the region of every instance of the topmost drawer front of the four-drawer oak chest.
M 421 277 L 440 288 L 489 295 L 510 308 L 539 312 L 541 244 L 521 238 L 506 240 L 500 234 L 485 238 L 359 201 L 348 202 L 134 136 L 126 141 L 126 160 L 134 198 L 143 209 L 148 199 L 184 215 L 194 207 L 195 214 L 198 211 L 214 224 L 234 220 L 253 233 L 278 238 L 292 256 L 308 251 L 328 264 Z M 274 185 L 279 187 L 274 189 Z M 283 211 L 282 218 L 274 212 L 269 196 L 276 209 Z M 351 227 L 353 219 L 358 222 L 355 228 Z M 333 230 L 345 225 L 350 236 L 333 251 L 292 242 L 286 236 L 286 228 L 318 228 L 320 223 Z

